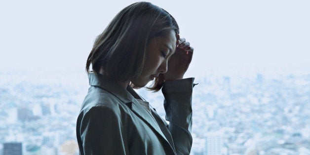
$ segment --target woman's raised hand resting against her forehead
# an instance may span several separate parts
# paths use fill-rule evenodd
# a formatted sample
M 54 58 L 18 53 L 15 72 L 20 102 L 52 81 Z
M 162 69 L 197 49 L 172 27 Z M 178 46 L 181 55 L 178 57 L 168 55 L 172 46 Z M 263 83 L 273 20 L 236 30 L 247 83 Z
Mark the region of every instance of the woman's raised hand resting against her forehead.
M 168 61 L 168 71 L 164 74 L 165 80 L 182 79 L 192 61 L 194 48 L 185 38 L 177 35 L 177 48 Z

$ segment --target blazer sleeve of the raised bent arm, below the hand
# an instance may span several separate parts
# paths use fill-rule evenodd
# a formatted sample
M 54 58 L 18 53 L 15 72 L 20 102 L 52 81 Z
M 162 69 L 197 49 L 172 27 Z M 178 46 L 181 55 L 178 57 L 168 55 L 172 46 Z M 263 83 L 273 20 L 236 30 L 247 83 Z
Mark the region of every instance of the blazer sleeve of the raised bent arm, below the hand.
M 192 93 L 194 78 L 165 81 L 162 87 L 166 120 L 177 155 L 189 155 L 192 148 Z

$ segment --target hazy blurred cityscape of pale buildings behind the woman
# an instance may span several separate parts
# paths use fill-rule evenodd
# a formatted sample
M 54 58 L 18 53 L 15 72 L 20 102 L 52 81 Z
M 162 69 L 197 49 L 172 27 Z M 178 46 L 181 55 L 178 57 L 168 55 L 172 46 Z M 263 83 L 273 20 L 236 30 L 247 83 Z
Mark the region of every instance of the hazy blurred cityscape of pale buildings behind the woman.
M 195 77 L 191 155 L 310 155 L 310 72 Z M 78 155 L 83 72 L 0 72 L 0 155 Z M 164 117 L 161 92 L 137 92 Z

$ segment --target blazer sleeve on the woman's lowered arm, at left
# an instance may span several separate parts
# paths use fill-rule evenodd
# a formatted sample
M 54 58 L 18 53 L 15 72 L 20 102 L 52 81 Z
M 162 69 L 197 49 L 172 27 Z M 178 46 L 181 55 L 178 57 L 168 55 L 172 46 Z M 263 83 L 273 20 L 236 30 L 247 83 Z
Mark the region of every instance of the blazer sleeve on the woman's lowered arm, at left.
M 80 120 L 80 155 L 128 154 L 123 132 L 120 118 L 113 109 L 108 106 L 92 107 Z

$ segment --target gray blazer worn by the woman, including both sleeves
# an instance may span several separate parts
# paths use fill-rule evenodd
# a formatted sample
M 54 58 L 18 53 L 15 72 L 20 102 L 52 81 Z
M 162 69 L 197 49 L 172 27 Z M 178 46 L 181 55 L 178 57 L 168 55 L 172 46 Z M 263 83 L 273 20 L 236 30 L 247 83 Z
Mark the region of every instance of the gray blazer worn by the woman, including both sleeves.
M 88 74 L 90 88 L 77 117 L 80 155 L 189 155 L 194 78 L 162 87 L 166 120 L 140 105 L 139 95 L 102 75 Z

